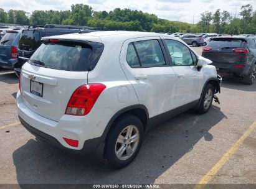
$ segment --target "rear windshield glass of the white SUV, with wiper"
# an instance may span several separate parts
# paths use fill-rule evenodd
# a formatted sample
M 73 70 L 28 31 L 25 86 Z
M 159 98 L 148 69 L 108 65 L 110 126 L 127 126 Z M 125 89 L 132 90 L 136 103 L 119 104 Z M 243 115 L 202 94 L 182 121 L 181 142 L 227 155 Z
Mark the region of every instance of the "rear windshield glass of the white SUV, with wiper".
M 83 43 L 59 42 L 40 45 L 29 63 L 67 71 L 88 71 L 92 48 Z

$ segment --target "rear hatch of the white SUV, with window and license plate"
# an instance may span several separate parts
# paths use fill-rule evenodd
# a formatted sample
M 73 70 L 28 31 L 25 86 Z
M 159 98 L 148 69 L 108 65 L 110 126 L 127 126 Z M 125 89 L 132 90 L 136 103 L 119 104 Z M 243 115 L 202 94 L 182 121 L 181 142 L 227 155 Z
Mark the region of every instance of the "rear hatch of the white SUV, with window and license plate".
M 24 64 L 21 95 L 26 106 L 45 118 L 59 121 L 78 86 L 87 83 L 95 64 L 95 47 L 83 42 L 44 42 Z

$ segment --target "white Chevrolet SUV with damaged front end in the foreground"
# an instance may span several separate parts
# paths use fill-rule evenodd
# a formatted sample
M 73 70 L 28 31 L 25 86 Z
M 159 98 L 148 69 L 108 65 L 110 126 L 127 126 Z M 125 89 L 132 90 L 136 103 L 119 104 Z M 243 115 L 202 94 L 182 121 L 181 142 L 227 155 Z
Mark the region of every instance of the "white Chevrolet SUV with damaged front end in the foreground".
M 196 108 L 206 113 L 220 80 L 182 40 L 146 32 L 45 37 L 22 67 L 19 119 L 39 139 L 130 164 L 151 126 Z

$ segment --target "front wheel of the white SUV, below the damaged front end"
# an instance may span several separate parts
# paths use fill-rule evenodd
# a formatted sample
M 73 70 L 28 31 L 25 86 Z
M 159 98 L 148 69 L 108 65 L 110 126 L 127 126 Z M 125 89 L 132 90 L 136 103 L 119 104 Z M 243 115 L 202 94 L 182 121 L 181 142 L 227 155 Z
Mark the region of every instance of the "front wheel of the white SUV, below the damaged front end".
M 214 86 L 212 86 L 211 83 L 208 83 L 206 85 L 206 88 L 204 88 L 204 91 L 202 92 L 202 99 L 199 104 L 199 108 L 197 109 L 197 111 L 200 114 L 204 114 L 204 113 L 207 113 L 207 111 L 209 111 L 212 105 L 213 96 L 214 96 Z

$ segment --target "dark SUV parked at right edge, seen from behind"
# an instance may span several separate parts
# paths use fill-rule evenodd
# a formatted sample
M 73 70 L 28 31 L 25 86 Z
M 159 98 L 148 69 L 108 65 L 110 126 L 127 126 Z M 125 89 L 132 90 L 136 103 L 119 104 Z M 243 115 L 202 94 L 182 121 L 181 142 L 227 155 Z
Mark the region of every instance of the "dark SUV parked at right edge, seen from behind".
M 237 75 L 251 85 L 256 73 L 256 37 L 214 37 L 202 48 L 219 73 Z

